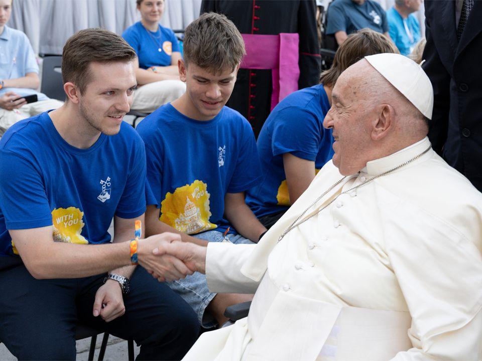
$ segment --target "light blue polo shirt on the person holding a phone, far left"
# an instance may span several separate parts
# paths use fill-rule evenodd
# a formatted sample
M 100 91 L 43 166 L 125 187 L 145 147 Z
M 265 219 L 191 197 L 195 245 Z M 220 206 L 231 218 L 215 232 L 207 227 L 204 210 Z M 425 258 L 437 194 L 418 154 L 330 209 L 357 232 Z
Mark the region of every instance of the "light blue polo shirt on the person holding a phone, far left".
M 0 79 L 22 78 L 27 73 L 39 73 L 39 66 L 30 41 L 20 30 L 5 25 L 4 31 L 0 34 Z M 3 88 L 0 89 L 0 96 L 9 91 L 20 96 L 37 94 L 39 100 L 49 99 L 45 94 L 28 88 Z

